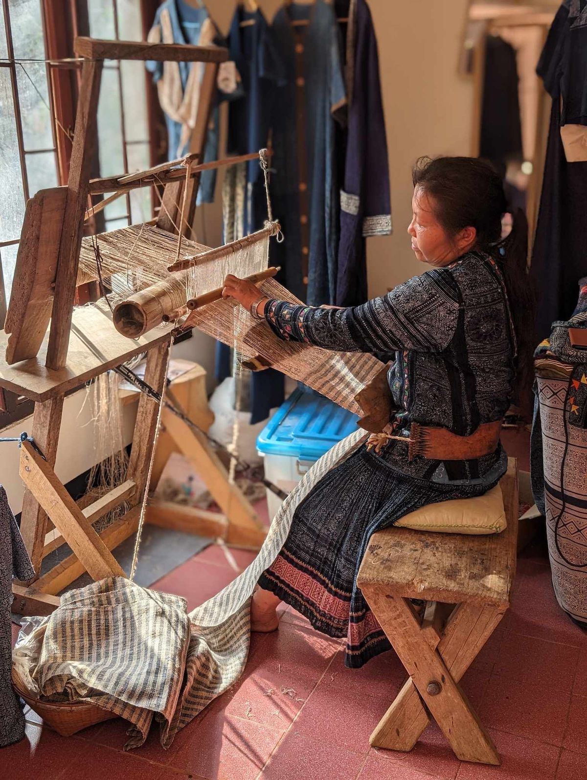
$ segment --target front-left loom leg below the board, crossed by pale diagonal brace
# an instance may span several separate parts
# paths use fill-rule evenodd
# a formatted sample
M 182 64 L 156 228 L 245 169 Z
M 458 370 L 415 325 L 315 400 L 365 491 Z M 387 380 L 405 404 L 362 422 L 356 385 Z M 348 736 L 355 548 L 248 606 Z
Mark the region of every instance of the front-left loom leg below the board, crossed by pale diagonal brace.
M 34 405 L 32 436 L 51 468 L 55 466 L 55 457 L 57 456 L 62 410 L 62 395 L 58 395 L 48 401 L 37 402 Z M 35 580 L 41 571 L 47 527 L 48 516 L 46 512 L 37 502 L 37 498 L 27 488 L 24 491 L 23 512 L 20 516 L 20 533 L 23 536 L 24 544 L 30 555 L 30 561 L 33 564 Z

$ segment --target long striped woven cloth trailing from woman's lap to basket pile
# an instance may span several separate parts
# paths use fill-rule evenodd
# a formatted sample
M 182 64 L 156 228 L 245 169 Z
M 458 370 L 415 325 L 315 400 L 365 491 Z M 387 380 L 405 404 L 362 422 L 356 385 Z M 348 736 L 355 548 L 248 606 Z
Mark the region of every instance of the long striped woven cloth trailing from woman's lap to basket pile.
M 62 596 L 34 672 L 41 694 L 88 701 L 126 718 L 126 749 L 143 744 L 155 718 L 161 745 L 170 746 L 179 729 L 242 675 L 253 589 L 277 558 L 295 507 L 365 440 L 365 431 L 355 431 L 316 461 L 281 505 L 255 560 L 189 615 L 184 599 L 122 577 Z

